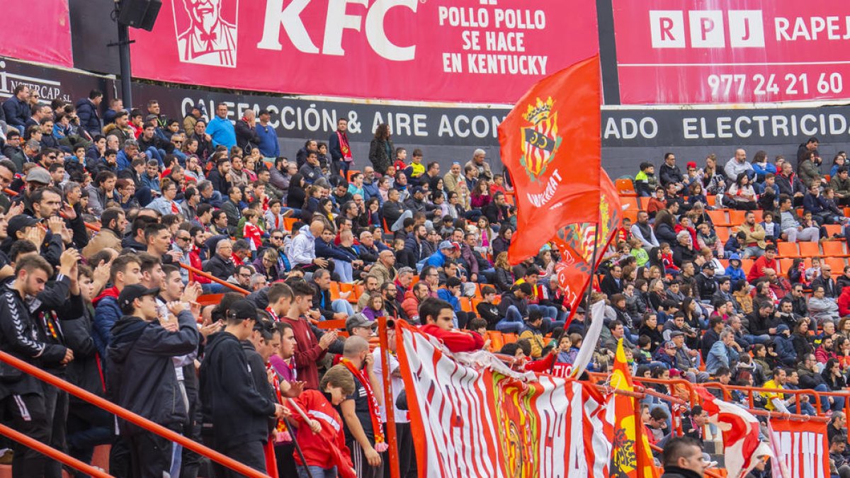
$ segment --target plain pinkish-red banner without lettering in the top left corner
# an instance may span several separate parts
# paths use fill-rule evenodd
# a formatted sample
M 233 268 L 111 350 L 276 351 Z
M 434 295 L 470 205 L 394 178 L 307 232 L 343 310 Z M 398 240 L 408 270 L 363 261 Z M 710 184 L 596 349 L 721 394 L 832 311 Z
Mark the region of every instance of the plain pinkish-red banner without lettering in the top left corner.
M 0 56 L 73 66 L 68 0 L 4 2 Z

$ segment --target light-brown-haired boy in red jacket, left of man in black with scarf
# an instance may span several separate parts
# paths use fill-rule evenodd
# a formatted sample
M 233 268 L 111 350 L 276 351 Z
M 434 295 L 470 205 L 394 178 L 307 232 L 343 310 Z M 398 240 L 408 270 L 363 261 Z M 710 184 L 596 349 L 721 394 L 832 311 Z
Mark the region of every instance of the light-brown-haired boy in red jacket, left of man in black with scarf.
M 295 400 L 310 418 L 307 422 L 300 413 L 292 413 L 298 427 L 298 445 L 307 462 L 304 464 L 297 453 L 293 454 L 298 476 L 354 477 L 351 452 L 345 446 L 343 418 L 334 408 L 354 393 L 354 377 L 348 368 L 335 365 L 322 377 L 320 390 L 304 390 Z

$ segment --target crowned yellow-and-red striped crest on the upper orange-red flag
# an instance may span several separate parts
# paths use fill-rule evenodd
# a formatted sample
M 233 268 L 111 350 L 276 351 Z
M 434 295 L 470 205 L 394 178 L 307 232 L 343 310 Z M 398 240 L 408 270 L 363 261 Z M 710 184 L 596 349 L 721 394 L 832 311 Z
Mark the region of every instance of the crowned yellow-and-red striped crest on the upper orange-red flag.
M 546 101 L 537 98 L 535 105 L 528 105 L 523 119 L 528 122 L 522 129 L 523 157 L 519 160 L 532 181 L 539 180 L 558 146 L 558 111 L 553 111 L 555 100 L 550 96 Z

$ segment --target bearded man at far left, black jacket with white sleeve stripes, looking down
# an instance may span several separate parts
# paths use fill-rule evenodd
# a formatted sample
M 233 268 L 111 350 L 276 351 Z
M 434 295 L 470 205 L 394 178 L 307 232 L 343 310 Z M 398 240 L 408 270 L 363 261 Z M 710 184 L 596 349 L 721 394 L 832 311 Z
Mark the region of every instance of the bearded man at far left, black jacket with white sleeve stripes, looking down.
M 64 367 L 74 360 L 74 353 L 65 345 L 42 341 L 27 306 L 44 291 L 52 274 L 53 267 L 46 260 L 29 254 L 17 260 L 14 277 L 0 286 L 0 350 L 39 367 Z M 5 411 L 4 422 L 37 441 L 50 443 L 53 417 L 52 413 L 48 415 L 45 394 L 49 385 L 42 386 L 37 378 L 5 364 L 0 366 L 0 373 L 3 376 L 0 406 Z M 17 442 L 13 450 L 14 476 L 44 475 L 47 457 Z

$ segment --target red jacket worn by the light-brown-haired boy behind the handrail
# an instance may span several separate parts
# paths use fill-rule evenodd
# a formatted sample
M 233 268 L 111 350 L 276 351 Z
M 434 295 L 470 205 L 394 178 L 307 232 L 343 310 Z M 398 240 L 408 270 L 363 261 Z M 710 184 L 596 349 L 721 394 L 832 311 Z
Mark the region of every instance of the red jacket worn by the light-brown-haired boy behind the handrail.
M 301 447 L 307 465 L 321 468 L 334 465 L 340 468 L 342 466 L 353 468 L 351 452 L 345 446 L 343 418 L 339 416 L 331 402 L 327 401 L 318 390 L 304 390 L 295 401 L 309 418 L 321 425 L 321 432 L 315 434 L 301 414 L 292 411 L 292 418 L 298 423 L 298 446 Z M 292 456 L 296 464 L 303 465 L 297 452 L 293 452 Z

